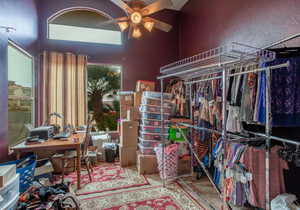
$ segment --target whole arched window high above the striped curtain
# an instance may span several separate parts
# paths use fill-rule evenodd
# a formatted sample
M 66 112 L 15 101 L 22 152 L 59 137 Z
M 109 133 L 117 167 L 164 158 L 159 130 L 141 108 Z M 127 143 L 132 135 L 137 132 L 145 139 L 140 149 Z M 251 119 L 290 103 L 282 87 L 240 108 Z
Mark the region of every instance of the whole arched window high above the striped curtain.
M 101 24 L 111 19 L 95 9 L 69 8 L 48 19 L 48 39 L 121 45 L 120 29 Z

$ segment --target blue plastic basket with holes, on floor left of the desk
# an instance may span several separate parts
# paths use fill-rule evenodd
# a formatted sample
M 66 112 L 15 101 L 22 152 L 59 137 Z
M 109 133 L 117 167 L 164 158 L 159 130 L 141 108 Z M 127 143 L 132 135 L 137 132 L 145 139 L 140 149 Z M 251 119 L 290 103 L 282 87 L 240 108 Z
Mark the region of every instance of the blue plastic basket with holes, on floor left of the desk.
M 36 166 L 36 157 L 35 155 L 28 156 L 21 160 L 10 161 L 6 163 L 0 164 L 0 166 L 4 165 L 12 165 L 12 164 L 19 164 L 20 162 L 30 158 L 28 164 L 24 168 L 17 168 L 17 173 L 20 174 L 20 193 L 25 192 L 32 184 L 34 179 L 34 170 Z

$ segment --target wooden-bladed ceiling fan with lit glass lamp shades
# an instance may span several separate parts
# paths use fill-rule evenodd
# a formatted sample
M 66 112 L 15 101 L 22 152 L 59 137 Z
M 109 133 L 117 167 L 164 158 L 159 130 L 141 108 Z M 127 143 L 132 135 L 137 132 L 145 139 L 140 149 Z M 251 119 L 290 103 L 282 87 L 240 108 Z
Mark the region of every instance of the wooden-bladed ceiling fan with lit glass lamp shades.
M 122 0 L 111 0 L 115 5 L 125 11 L 127 16 L 107 21 L 103 24 L 117 23 L 121 31 L 129 28 L 128 38 L 140 38 L 142 36 L 141 27 L 151 32 L 153 28 L 169 32 L 172 29 L 170 24 L 149 17 L 160 10 L 171 7 L 171 0 L 157 0 L 156 2 L 146 5 L 142 0 L 131 0 L 125 3 Z M 102 24 L 101 24 L 102 25 Z

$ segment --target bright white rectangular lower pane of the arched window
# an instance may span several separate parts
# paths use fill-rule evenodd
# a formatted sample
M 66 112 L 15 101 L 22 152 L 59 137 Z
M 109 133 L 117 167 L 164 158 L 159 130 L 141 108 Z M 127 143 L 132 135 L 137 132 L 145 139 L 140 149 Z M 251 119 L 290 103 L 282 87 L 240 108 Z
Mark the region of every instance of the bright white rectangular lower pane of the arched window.
M 120 31 L 49 24 L 49 39 L 121 45 Z

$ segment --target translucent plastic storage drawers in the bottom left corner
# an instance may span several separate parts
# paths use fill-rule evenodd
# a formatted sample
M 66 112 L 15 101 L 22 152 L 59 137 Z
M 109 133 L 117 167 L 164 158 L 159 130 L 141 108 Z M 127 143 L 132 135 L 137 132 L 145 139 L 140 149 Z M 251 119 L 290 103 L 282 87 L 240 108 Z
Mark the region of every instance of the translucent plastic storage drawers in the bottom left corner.
M 0 209 L 4 208 L 5 205 L 11 200 L 13 200 L 16 195 L 18 196 L 20 193 L 19 188 L 20 180 L 19 174 L 16 174 L 4 187 L 0 188 Z

